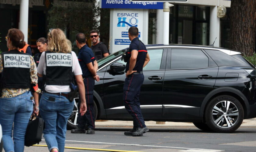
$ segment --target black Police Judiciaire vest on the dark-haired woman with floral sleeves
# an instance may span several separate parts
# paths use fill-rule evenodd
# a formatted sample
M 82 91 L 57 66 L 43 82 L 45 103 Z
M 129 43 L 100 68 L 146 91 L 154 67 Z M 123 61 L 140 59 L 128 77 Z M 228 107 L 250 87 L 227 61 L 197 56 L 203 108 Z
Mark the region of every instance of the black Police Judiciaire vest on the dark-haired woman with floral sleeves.
M 30 55 L 10 50 L 2 53 L 3 88 L 30 88 Z

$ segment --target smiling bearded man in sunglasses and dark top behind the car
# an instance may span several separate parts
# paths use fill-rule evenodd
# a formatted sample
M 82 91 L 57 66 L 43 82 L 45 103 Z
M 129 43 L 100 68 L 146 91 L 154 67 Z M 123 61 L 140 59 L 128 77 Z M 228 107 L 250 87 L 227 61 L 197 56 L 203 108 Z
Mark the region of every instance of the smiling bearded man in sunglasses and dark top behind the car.
M 92 42 L 91 49 L 94 53 L 95 59 L 98 61 L 103 57 L 109 55 L 108 47 L 105 43 L 99 41 L 99 32 L 96 30 L 90 31 L 90 39 Z

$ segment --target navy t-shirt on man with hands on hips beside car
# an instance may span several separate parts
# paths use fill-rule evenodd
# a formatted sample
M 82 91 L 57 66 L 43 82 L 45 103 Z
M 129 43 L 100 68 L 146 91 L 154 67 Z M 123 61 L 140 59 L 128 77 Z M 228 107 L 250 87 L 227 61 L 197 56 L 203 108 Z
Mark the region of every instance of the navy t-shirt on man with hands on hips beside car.
M 133 71 L 142 71 L 143 70 L 143 65 L 147 56 L 147 49 L 146 46 L 138 41 L 139 38 L 136 37 L 132 40 L 132 42 L 130 43 L 130 47 L 128 50 L 128 54 L 131 54 L 132 50 L 137 50 L 138 51 L 138 55 L 137 55 L 137 60 L 136 60 L 136 64 L 135 67 L 133 68 Z M 129 70 L 129 64 L 130 64 L 130 60 L 127 61 L 126 63 L 126 67 L 125 67 L 125 72 L 127 72 Z

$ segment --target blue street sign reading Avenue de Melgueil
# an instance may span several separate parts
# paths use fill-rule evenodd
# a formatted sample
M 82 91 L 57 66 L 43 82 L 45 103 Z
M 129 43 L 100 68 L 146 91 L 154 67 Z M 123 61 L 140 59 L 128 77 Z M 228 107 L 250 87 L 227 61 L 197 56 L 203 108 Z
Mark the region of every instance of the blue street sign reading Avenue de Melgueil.
M 105 9 L 163 9 L 163 2 L 131 2 L 130 0 L 101 0 Z

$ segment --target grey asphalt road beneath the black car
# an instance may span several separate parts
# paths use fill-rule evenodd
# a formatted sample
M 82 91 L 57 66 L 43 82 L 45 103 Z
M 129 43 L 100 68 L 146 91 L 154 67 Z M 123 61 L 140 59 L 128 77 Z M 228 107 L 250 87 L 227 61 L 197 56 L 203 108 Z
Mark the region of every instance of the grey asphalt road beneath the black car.
M 144 152 L 217 152 L 217 151 L 256 151 L 256 127 L 240 127 L 234 133 L 203 132 L 193 126 L 149 127 L 144 136 L 125 136 L 130 127 L 100 127 L 94 135 L 66 134 L 66 146 L 97 148 L 108 150 L 132 150 Z M 46 145 L 42 140 L 41 145 Z M 25 152 L 48 151 L 47 147 L 25 147 Z M 90 151 L 74 150 L 69 151 Z M 95 151 L 94 151 L 95 152 Z

